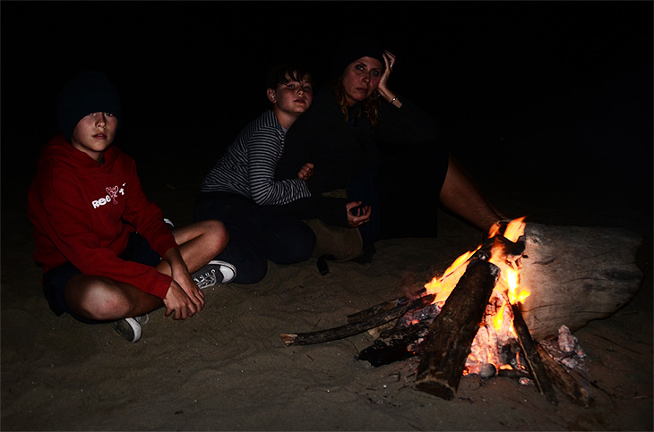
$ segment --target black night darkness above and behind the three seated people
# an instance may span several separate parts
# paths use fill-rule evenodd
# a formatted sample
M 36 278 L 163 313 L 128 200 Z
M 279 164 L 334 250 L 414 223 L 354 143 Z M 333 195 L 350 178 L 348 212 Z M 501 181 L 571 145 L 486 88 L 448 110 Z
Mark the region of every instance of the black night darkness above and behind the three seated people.
M 552 188 L 612 184 L 651 208 L 652 2 L 1 7 L 3 189 L 33 171 L 56 133 L 56 94 L 79 70 L 108 72 L 122 92 L 116 145 L 137 163 L 198 161 L 202 178 L 266 106 L 271 63 L 305 59 L 323 82 L 332 47 L 366 32 L 397 55 L 391 88 L 435 115 L 464 165 Z

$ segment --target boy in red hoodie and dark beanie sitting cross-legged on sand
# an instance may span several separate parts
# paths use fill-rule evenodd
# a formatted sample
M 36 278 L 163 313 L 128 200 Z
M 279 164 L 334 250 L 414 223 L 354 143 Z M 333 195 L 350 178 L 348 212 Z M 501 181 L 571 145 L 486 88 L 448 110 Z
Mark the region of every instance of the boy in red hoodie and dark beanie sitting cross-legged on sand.
M 70 80 L 57 104 L 62 133 L 41 151 L 28 207 L 50 309 L 110 322 L 136 342 L 142 329 L 133 317 L 162 306 L 167 317 L 193 317 L 204 306 L 201 289 L 227 284 L 236 268 L 211 261 L 228 243 L 221 222 L 171 230 L 145 197 L 133 159 L 111 145 L 120 115 L 104 73 Z

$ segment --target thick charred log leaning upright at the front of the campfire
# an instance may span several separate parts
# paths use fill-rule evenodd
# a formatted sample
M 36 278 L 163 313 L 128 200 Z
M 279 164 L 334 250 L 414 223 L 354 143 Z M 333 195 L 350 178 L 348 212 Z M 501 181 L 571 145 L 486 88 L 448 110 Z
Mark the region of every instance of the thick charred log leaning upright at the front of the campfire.
M 416 388 L 450 400 L 459 388 L 470 344 L 479 329 L 500 269 L 473 259 L 429 328 Z

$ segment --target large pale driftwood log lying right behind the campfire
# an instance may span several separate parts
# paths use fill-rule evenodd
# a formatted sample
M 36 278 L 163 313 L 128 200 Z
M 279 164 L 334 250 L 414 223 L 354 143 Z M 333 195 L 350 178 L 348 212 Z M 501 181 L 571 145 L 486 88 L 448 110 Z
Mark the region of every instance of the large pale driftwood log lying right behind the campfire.
M 527 223 L 521 286 L 531 295 L 522 316 L 535 339 L 607 318 L 641 286 L 635 264 L 641 238 L 617 228 Z

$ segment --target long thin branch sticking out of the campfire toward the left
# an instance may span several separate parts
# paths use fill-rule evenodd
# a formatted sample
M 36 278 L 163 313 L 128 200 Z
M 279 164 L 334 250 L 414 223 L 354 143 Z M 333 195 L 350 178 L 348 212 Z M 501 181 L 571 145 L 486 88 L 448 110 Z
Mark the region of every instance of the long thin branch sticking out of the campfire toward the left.
M 435 299 L 435 294 L 426 295 L 418 298 L 415 301 L 409 301 L 397 304 L 391 309 L 383 309 L 381 313 L 377 313 L 366 319 L 359 320 L 355 323 L 346 324 L 345 326 L 338 326 L 326 330 L 319 330 L 309 333 L 298 334 L 282 334 L 281 339 L 284 343 L 289 345 L 310 345 L 313 343 L 324 343 L 344 339 L 349 336 L 358 335 L 366 330 L 381 326 L 384 323 L 392 321 L 395 318 L 400 318 L 411 309 L 424 308 Z

